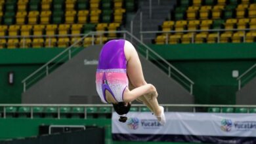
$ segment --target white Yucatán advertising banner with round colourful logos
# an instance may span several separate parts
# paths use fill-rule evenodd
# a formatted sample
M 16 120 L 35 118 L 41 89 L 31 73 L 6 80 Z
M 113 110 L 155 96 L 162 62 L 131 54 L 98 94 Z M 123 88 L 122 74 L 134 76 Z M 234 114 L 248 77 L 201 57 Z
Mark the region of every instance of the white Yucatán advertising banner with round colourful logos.
M 256 143 L 256 115 L 251 113 L 165 113 L 164 126 L 152 113 L 131 112 L 127 122 L 112 115 L 112 136 L 119 141 Z

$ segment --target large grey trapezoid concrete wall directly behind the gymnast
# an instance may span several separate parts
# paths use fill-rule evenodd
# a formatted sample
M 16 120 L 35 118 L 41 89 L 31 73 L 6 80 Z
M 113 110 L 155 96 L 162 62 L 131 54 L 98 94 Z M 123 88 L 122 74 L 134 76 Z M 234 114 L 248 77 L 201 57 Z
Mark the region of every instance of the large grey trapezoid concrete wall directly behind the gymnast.
M 95 71 L 101 46 L 89 46 L 22 94 L 22 103 L 101 103 Z M 194 103 L 194 97 L 156 65 L 140 58 L 144 77 L 158 89 L 160 103 Z

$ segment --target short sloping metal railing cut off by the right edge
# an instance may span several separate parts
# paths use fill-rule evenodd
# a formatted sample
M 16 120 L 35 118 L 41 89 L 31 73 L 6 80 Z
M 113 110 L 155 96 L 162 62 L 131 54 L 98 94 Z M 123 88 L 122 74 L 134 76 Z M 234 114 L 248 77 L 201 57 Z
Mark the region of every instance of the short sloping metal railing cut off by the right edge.
M 236 80 L 238 81 L 238 90 L 241 90 L 242 86 L 249 82 L 256 75 L 256 63 L 247 69 L 240 77 Z

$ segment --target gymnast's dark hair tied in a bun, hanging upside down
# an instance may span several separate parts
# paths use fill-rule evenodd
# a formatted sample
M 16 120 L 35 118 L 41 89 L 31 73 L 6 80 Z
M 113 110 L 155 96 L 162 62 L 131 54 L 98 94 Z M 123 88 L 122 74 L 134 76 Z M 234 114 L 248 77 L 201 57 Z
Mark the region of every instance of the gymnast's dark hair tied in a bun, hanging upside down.
M 119 122 L 126 122 L 127 117 L 123 116 L 127 114 L 131 108 L 131 103 L 119 102 L 112 103 L 113 107 L 118 115 L 121 115 L 119 118 Z

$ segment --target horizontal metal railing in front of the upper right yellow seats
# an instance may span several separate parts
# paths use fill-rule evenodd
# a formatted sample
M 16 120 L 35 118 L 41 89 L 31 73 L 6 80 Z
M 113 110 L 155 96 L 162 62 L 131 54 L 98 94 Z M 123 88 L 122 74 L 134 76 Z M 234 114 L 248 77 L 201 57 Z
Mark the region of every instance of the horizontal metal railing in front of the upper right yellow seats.
M 140 31 L 140 41 L 144 41 L 145 39 L 151 39 L 146 37 L 147 34 L 149 33 L 155 33 L 155 34 L 163 34 L 165 35 L 165 44 L 168 44 L 169 42 L 169 36 L 173 35 L 175 33 L 193 33 L 191 37 L 191 43 L 195 43 L 196 39 L 196 33 L 200 32 L 209 32 L 209 33 L 217 33 L 217 43 L 220 43 L 221 40 L 221 33 L 227 32 L 227 31 L 243 31 L 244 35 L 242 37 L 243 42 L 245 43 L 246 41 L 246 32 L 247 31 L 256 31 L 256 29 L 197 29 L 197 30 L 182 30 L 182 31 Z

